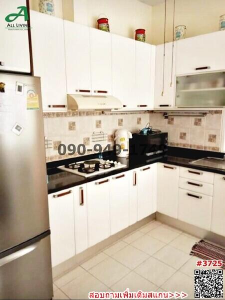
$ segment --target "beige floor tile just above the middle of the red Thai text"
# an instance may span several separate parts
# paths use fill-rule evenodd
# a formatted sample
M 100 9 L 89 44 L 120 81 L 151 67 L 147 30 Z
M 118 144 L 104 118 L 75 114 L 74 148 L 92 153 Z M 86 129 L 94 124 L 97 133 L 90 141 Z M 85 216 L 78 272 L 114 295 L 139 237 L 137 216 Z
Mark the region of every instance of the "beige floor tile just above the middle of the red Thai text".
M 129 288 L 130 291 L 138 291 L 139 289 L 143 291 L 156 291 L 158 286 L 137 273 L 131 272 L 113 284 L 111 288 L 114 291 L 124 291 L 126 288 Z

